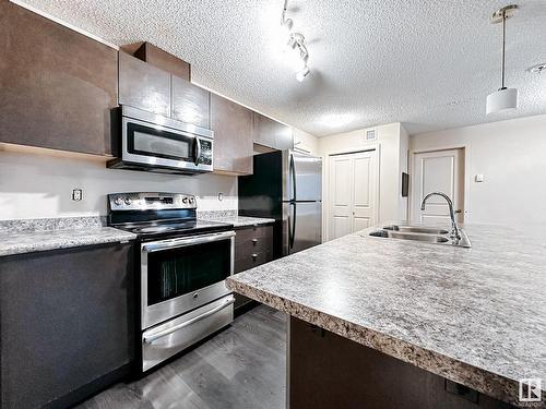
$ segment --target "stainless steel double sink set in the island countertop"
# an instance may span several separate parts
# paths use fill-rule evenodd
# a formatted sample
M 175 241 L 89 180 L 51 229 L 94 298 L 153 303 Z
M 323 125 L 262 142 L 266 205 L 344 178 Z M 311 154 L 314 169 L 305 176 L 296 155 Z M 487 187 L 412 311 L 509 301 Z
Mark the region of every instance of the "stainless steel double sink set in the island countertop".
M 449 230 L 438 227 L 390 225 L 368 234 L 384 239 L 413 240 L 425 243 L 471 248 L 471 241 L 464 230 L 460 229 L 459 231 L 461 238 L 456 239 Z

